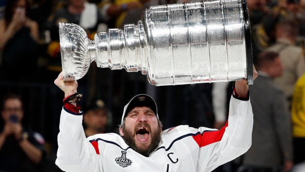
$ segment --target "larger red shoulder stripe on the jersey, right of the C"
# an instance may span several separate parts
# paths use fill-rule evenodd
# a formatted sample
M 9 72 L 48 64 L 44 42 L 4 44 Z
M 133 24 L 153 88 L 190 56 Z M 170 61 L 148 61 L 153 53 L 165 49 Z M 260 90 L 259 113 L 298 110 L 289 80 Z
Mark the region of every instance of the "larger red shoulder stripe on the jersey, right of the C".
M 213 132 L 204 132 L 202 135 L 196 135 L 192 137 L 197 142 L 199 147 L 203 147 L 214 142 L 220 141 L 226 127 L 228 127 L 228 121 L 226 125 L 223 126 L 220 130 L 216 130 Z

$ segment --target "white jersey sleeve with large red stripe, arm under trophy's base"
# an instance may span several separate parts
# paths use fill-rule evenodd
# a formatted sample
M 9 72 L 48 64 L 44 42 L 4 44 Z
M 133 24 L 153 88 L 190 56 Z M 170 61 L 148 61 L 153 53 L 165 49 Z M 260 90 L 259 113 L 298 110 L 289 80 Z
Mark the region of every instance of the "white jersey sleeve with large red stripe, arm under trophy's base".
M 211 172 L 244 154 L 251 146 L 253 113 L 249 98 L 232 95 L 229 118 L 221 130 L 199 128 L 192 136 L 199 146 L 199 168 Z

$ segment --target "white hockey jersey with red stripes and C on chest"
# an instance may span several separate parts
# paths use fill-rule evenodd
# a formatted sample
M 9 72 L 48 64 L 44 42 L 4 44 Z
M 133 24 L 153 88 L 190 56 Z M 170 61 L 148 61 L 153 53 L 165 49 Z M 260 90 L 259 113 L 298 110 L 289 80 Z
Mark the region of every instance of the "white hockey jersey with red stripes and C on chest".
M 251 146 L 251 104 L 236 97 L 231 97 L 229 119 L 221 130 L 167 129 L 149 157 L 132 150 L 117 134 L 86 138 L 82 119 L 82 113 L 61 111 L 56 164 L 65 172 L 211 172 Z

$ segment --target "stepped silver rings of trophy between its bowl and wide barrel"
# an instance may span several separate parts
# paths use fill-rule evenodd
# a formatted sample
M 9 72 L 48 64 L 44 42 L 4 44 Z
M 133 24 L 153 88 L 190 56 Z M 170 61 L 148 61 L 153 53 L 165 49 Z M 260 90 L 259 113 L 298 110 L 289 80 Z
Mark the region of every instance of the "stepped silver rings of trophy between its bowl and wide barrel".
M 94 40 L 90 40 L 88 44 L 90 63 L 95 61 L 99 68 L 124 68 L 128 72 L 141 70 L 146 74 L 144 37 L 142 21 L 139 21 L 138 25 L 124 25 L 123 30 L 109 29 L 107 32 L 95 34 Z

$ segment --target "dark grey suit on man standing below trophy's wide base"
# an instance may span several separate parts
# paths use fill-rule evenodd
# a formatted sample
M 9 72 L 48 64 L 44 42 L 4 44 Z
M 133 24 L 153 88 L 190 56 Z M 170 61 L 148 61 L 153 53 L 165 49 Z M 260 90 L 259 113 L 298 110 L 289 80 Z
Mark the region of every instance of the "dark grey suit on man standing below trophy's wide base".
M 291 122 L 283 92 L 262 72 L 249 91 L 254 121 L 244 165 L 272 168 L 292 160 Z

